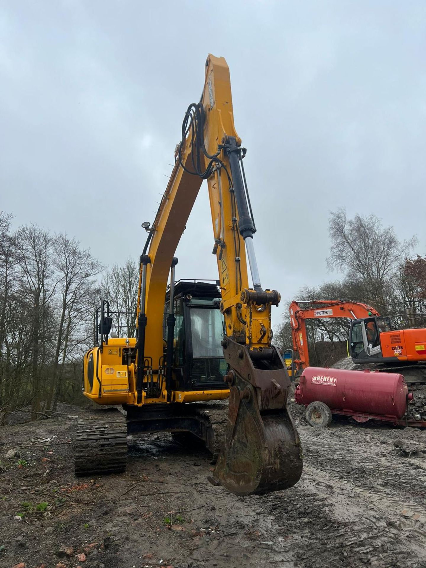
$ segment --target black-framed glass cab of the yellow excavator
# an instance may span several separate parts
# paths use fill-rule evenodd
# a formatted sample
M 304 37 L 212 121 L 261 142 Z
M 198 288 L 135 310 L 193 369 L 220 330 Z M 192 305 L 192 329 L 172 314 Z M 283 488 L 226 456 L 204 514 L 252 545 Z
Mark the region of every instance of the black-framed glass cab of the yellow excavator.
M 220 342 L 224 319 L 220 312 L 220 291 L 216 281 L 180 280 L 174 285 L 174 383 L 175 391 L 223 390 L 228 365 Z M 170 289 L 164 308 L 164 339 L 169 312 Z

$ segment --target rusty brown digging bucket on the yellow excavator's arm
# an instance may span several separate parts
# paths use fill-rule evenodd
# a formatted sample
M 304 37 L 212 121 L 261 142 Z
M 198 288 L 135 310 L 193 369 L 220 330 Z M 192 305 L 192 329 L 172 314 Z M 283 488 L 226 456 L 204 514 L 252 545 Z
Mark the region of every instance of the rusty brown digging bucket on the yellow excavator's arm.
M 210 481 L 236 495 L 267 493 L 295 485 L 302 475 L 302 446 L 287 410 L 291 385 L 274 347 L 256 364 L 244 345 L 227 339 L 231 370 L 225 441 Z

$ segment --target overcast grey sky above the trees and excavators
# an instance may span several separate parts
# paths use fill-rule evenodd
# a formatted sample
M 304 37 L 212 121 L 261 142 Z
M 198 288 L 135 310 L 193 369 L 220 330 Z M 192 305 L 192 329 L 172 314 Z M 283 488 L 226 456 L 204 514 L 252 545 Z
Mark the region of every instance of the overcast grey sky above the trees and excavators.
M 139 258 L 209 52 L 231 71 L 264 287 L 335 277 L 337 207 L 426 253 L 424 0 L 3 0 L 0 208 L 104 264 Z M 216 278 L 212 244 L 204 182 L 177 277 Z

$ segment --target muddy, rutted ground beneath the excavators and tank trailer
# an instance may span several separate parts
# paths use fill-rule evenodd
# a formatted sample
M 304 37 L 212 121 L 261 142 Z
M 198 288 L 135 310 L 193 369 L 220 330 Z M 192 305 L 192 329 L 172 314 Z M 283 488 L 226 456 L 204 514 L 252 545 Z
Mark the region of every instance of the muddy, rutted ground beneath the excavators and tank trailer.
M 125 474 L 76 479 L 74 419 L 0 429 L 0 566 L 426 567 L 426 433 L 314 430 L 292 408 L 302 479 L 245 498 L 210 485 L 209 454 L 169 435 L 130 440 Z

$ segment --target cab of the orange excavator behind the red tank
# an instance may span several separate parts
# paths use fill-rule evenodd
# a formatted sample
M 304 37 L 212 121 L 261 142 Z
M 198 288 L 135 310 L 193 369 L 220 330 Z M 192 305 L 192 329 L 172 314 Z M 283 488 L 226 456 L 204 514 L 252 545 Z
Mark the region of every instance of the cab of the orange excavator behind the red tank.
M 371 318 L 351 321 L 349 329 L 349 354 L 355 363 L 383 361 L 381 333 L 390 332 L 389 318 Z

